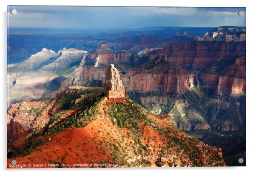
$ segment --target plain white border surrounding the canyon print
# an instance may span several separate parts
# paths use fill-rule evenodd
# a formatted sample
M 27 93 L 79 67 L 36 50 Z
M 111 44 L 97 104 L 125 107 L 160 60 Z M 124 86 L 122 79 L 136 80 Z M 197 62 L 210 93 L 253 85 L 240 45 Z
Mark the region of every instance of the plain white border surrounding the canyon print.
M 164 173 L 190 173 L 198 174 L 199 172 L 207 174 L 230 173 L 243 174 L 253 173 L 255 163 L 256 144 L 255 120 L 256 120 L 256 26 L 255 17 L 256 9 L 253 1 L 245 0 L 1 0 L 1 157 L 0 166 L 4 173 L 48 173 L 48 172 L 83 172 L 83 173 L 122 173 L 130 174 L 134 172 L 145 172 L 149 174 Z M 7 5 L 47 5 L 47 6 L 191 6 L 191 7 L 246 7 L 246 167 L 226 167 L 226 168 L 118 168 L 118 169 L 22 169 L 6 170 L 6 6 Z

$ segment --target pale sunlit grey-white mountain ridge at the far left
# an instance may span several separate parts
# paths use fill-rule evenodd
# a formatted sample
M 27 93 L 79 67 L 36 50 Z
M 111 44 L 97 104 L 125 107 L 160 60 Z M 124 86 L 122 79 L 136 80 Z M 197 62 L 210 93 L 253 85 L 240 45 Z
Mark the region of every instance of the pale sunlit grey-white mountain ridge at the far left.
M 64 48 L 56 53 L 43 48 L 20 64 L 9 67 L 8 107 L 16 102 L 51 97 L 86 55 L 84 50 Z

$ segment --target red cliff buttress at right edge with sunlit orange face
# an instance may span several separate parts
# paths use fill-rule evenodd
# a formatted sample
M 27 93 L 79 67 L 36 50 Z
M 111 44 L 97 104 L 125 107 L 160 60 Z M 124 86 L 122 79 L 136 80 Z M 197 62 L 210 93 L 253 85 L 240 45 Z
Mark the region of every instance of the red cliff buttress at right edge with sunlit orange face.
M 245 95 L 245 57 L 224 58 L 199 73 L 199 78 L 203 86 L 216 89 L 217 94 L 243 96 Z

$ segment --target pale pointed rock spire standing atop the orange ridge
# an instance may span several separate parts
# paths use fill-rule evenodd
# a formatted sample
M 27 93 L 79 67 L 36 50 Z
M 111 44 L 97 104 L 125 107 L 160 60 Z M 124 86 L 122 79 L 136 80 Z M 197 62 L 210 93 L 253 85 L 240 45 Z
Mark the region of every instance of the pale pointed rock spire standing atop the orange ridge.
M 125 100 L 125 88 L 122 85 L 119 71 L 115 68 L 114 64 L 110 64 L 106 71 L 104 93 L 110 101 Z

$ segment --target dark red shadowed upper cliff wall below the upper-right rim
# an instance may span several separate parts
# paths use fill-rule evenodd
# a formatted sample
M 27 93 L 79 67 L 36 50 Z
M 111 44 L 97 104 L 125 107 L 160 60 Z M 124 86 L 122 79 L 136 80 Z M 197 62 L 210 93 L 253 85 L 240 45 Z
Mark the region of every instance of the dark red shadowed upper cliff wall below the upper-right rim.
M 201 70 L 225 55 L 244 55 L 244 42 L 201 41 L 189 44 L 165 45 L 162 50 L 151 52 L 151 58 L 165 54 L 173 64 L 188 70 Z

